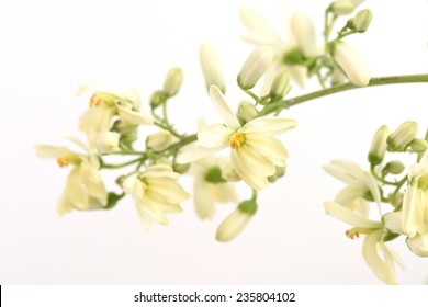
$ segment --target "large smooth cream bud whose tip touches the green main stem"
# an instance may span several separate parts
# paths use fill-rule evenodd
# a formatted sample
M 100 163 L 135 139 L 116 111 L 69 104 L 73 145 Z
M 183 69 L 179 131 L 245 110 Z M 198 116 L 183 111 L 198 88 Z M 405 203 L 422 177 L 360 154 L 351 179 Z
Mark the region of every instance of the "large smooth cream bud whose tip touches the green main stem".
M 359 52 L 341 41 L 335 42 L 333 46 L 333 58 L 343 69 L 349 81 L 363 87 L 369 84 L 370 70 L 365 60 Z

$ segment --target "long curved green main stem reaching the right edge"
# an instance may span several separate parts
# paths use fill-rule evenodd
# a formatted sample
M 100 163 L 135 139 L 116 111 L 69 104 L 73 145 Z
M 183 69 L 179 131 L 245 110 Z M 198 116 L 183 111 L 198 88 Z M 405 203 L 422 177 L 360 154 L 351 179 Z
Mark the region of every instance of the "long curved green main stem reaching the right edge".
M 408 76 L 394 76 L 394 77 L 379 77 L 379 78 L 372 78 L 370 79 L 370 82 L 367 87 L 376 87 L 376 86 L 384 86 L 384 84 L 398 84 L 398 83 L 418 83 L 418 82 L 428 82 L 428 73 L 425 75 L 408 75 Z M 296 98 L 288 99 L 288 100 L 281 100 L 279 102 L 274 102 L 268 106 L 266 106 L 259 114 L 259 116 L 268 115 L 270 113 L 273 113 L 278 110 L 278 107 L 290 107 L 297 105 L 300 103 L 306 102 L 308 100 L 314 100 L 317 98 L 345 92 L 349 90 L 354 89 L 361 89 L 364 87 L 358 87 L 350 82 L 331 87 L 328 89 L 324 89 L 320 91 L 312 92 L 308 94 L 300 95 Z

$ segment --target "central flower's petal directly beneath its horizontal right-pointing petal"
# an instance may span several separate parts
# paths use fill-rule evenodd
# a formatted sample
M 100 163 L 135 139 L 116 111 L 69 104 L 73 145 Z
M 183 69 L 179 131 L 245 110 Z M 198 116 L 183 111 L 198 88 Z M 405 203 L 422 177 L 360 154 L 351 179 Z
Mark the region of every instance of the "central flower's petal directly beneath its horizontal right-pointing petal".
M 246 143 L 271 161 L 282 161 L 289 158 L 285 147 L 275 138 L 259 134 L 247 134 Z

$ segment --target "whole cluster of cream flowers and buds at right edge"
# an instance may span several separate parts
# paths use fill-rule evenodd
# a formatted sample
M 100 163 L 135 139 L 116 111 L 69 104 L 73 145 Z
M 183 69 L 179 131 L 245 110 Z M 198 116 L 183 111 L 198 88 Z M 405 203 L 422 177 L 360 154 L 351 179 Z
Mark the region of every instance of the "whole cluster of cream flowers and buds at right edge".
M 403 261 L 387 241 L 401 235 L 412 252 L 428 257 L 428 143 L 417 138 L 418 127 L 413 121 L 403 123 L 391 133 L 380 127 L 372 140 L 364 171 L 349 161 L 331 161 L 325 170 L 347 184 L 333 202 L 326 202 L 328 214 L 352 226 L 346 231 L 353 239 L 365 235 L 363 257 L 373 273 L 383 282 L 395 284 L 394 263 L 404 268 Z M 407 173 L 398 160 L 385 162 L 385 155 L 414 154 Z M 370 219 L 372 204 L 376 220 Z

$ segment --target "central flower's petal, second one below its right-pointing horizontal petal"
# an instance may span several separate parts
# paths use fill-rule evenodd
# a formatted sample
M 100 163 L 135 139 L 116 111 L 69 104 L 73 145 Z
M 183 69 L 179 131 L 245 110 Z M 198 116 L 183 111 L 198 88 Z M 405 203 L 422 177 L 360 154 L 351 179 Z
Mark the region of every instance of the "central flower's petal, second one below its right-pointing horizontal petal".
M 254 150 L 248 145 L 243 145 L 236 149 L 239 164 L 245 169 L 251 170 L 262 177 L 269 177 L 275 173 L 277 168 L 273 162 L 264 158 L 262 155 Z

